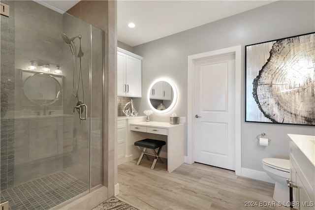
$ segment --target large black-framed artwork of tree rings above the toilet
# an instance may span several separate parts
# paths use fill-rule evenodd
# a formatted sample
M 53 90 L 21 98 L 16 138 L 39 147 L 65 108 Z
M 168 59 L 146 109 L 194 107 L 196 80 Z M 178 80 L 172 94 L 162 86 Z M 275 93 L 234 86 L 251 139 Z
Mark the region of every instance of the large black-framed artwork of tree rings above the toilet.
M 315 125 L 315 32 L 245 48 L 245 121 Z

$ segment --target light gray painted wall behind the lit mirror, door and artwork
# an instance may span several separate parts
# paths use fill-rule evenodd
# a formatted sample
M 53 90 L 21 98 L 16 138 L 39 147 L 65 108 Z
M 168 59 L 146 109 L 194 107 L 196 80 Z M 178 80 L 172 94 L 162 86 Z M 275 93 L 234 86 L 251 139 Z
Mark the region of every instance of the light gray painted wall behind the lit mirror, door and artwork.
M 171 113 L 175 111 L 187 118 L 187 56 L 242 45 L 242 167 L 263 171 L 263 157 L 288 158 L 287 133 L 314 135 L 315 129 L 314 126 L 245 122 L 245 45 L 314 31 L 315 1 L 277 1 L 135 46 L 133 53 L 143 57 L 142 98 L 134 98 L 139 115 L 149 108 L 146 93 L 150 84 L 158 77 L 168 77 L 174 81 L 179 93 Z M 168 121 L 171 113 L 153 114 L 150 118 Z M 258 146 L 255 138 L 262 132 L 271 139 L 269 147 Z

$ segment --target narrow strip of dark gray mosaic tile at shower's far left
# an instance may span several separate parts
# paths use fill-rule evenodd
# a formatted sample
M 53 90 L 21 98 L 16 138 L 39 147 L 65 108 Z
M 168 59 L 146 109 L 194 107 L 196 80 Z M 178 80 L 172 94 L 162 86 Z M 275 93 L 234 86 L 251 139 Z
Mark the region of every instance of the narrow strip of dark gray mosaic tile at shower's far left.
M 14 182 L 15 23 L 14 1 L 1 0 L 1 2 L 10 6 L 10 17 L 2 15 L 0 17 L 0 188 L 4 190 L 13 186 Z

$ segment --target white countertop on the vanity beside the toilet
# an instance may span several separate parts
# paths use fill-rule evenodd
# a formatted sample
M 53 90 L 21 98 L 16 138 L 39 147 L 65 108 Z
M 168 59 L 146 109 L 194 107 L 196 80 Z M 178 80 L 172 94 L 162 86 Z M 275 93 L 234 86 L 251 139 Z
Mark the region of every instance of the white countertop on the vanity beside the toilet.
M 315 136 L 287 134 L 315 166 Z

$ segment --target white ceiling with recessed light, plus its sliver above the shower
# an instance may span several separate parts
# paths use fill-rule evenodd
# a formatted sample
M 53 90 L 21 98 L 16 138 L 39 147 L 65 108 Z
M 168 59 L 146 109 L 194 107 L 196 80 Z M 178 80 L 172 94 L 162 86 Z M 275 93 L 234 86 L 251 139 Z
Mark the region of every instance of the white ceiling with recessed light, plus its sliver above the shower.
M 67 11 L 79 0 L 35 1 Z M 117 0 L 117 39 L 133 47 L 274 1 Z M 129 28 L 129 22 L 133 22 L 136 27 Z

